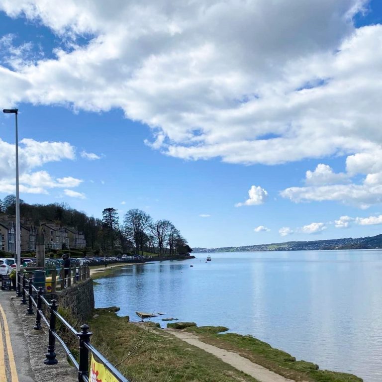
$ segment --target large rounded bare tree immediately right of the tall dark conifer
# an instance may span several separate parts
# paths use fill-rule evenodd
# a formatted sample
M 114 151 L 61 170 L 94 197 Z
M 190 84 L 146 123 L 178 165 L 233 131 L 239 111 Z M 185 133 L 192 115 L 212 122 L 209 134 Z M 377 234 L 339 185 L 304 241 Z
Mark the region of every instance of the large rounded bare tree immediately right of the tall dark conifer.
M 141 251 L 143 255 L 143 247 L 147 241 L 147 233 L 153 224 L 153 219 L 148 213 L 134 208 L 126 212 L 123 223 L 127 235 L 135 244 L 136 252 Z

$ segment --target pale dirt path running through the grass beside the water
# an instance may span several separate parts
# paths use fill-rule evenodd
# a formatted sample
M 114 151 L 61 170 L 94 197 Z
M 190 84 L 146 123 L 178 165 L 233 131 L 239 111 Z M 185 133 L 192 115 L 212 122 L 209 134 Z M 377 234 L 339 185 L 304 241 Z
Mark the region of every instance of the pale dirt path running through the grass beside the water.
M 294 382 L 283 376 L 280 376 L 279 374 L 271 372 L 263 366 L 254 364 L 247 358 L 244 358 L 237 353 L 233 353 L 228 350 L 220 349 L 216 346 L 201 342 L 192 333 L 175 330 L 168 330 L 168 332 L 173 334 L 175 337 L 186 341 L 190 345 L 196 346 L 197 348 L 203 349 L 204 351 L 213 354 L 225 363 L 233 366 L 235 369 L 240 370 L 253 378 L 256 378 L 260 382 Z

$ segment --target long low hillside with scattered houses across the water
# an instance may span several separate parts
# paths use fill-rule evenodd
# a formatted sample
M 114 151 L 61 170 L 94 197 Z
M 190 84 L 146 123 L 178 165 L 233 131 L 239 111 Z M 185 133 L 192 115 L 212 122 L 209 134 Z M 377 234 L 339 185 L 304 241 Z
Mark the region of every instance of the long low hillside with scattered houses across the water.
M 353 239 L 331 239 L 315 241 L 287 241 L 285 243 L 246 245 L 243 247 L 192 248 L 198 252 L 251 252 L 251 251 L 313 251 L 329 249 L 375 249 L 382 248 L 382 234 Z

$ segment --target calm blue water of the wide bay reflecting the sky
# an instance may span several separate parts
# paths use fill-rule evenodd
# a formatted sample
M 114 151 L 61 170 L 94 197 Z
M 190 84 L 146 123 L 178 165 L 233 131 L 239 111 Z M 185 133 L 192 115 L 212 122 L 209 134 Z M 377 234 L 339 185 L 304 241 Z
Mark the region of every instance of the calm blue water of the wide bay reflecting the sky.
M 212 253 L 99 279 L 96 307 L 223 325 L 321 369 L 382 381 L 382 251 Z M 190 267 L 190 265 L 193 267 Z

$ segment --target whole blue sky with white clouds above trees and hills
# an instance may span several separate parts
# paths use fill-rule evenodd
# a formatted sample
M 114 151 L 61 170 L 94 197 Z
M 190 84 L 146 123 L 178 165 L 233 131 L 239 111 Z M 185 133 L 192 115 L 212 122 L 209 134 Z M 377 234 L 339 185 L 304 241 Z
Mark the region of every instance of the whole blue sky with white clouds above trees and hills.
M 382 233 L 380 2 L 68 4 L 0 0 L 24 200 L 141 208 L 201 247 Z

